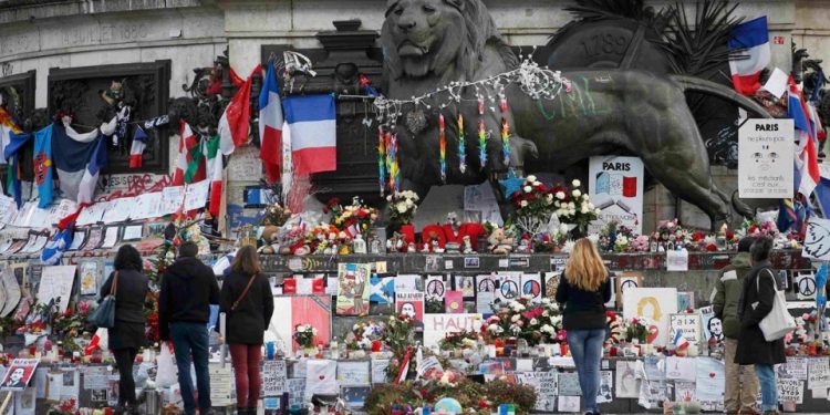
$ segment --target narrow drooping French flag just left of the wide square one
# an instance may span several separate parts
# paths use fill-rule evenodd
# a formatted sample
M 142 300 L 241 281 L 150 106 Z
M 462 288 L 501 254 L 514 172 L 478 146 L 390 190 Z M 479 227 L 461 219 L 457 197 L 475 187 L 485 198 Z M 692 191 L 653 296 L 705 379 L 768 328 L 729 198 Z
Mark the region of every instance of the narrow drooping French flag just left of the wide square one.
M 262 91 L 259 93 L 259 158 L 266 169 L 266 180 L 274 183 L 280 178 L 282 159 L 282 103 L 273 64 L 268 64 Z

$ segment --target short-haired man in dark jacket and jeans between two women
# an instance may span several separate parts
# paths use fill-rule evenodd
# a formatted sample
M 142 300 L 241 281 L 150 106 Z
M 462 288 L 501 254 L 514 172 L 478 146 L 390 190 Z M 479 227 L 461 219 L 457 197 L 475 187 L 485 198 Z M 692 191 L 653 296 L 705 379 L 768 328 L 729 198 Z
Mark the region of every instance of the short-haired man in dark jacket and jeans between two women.
M 208 375 L 208 331 L 210 304 L 219 303 L 219 284 L 214 270 L 196 258 L 199 248 L 185 242 L 179 258 L 167 268 L 158 295 L 158 333 L 162 340 L 173 340 L 178 366 L 178 382 L 185 413 L 196 413 L 196 400 L 190 378 L 190 357 L 196 369 L 200 413 L 211 413 L 210 377 Z

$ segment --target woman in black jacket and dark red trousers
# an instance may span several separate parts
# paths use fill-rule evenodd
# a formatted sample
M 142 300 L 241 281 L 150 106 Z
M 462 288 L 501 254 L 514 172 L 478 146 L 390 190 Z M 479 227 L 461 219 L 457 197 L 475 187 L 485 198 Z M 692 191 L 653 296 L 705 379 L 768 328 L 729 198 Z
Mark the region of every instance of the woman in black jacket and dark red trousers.
M 225 341 L 236 376 L 237 414 L 253 415 L 262 386 L 262 338 L 273 314 L 271 284 L 262 274 L 255 247 L 242 247 L 234 258 L 230 276 L 222 282 L 219 311 L 226 314 Z

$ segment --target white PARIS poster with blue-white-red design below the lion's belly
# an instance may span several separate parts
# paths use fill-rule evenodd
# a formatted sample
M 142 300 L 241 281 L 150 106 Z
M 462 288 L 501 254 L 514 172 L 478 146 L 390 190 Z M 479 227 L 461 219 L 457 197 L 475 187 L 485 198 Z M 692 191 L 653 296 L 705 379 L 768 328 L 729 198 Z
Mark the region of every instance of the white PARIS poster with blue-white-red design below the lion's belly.
M 635 234 L 643 231 L 644 175 L 639 157 L 591 157 L 588 190 L 591 203 L 600 208 L 600 218 L 592 228 L 615 221 Z

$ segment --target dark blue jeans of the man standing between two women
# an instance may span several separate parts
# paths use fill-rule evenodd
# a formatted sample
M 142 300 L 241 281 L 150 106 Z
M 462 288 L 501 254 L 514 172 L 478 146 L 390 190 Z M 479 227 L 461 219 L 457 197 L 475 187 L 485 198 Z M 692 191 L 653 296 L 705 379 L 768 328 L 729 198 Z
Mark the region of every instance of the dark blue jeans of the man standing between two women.
M 170 323 L 170 338 L 178 366 L 178 383 L 185 414 L 196 414 L 196 400 L 190 378 L 190 359 L 196 369 L 196 387 L 199 393 L 199 409 L 205 414 L 210 409 L 210 375 L 208 373 L 208 333 L 204 323 Z

